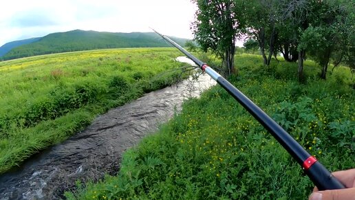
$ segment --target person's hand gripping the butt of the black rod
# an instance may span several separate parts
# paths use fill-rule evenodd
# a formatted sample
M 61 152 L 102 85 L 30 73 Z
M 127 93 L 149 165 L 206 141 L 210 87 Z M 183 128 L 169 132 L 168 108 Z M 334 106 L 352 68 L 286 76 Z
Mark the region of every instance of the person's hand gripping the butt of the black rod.
M 346 189 L 319 191 L 314 187 L 309 200 L 355 200 L 355 168 L 332 173 Z

